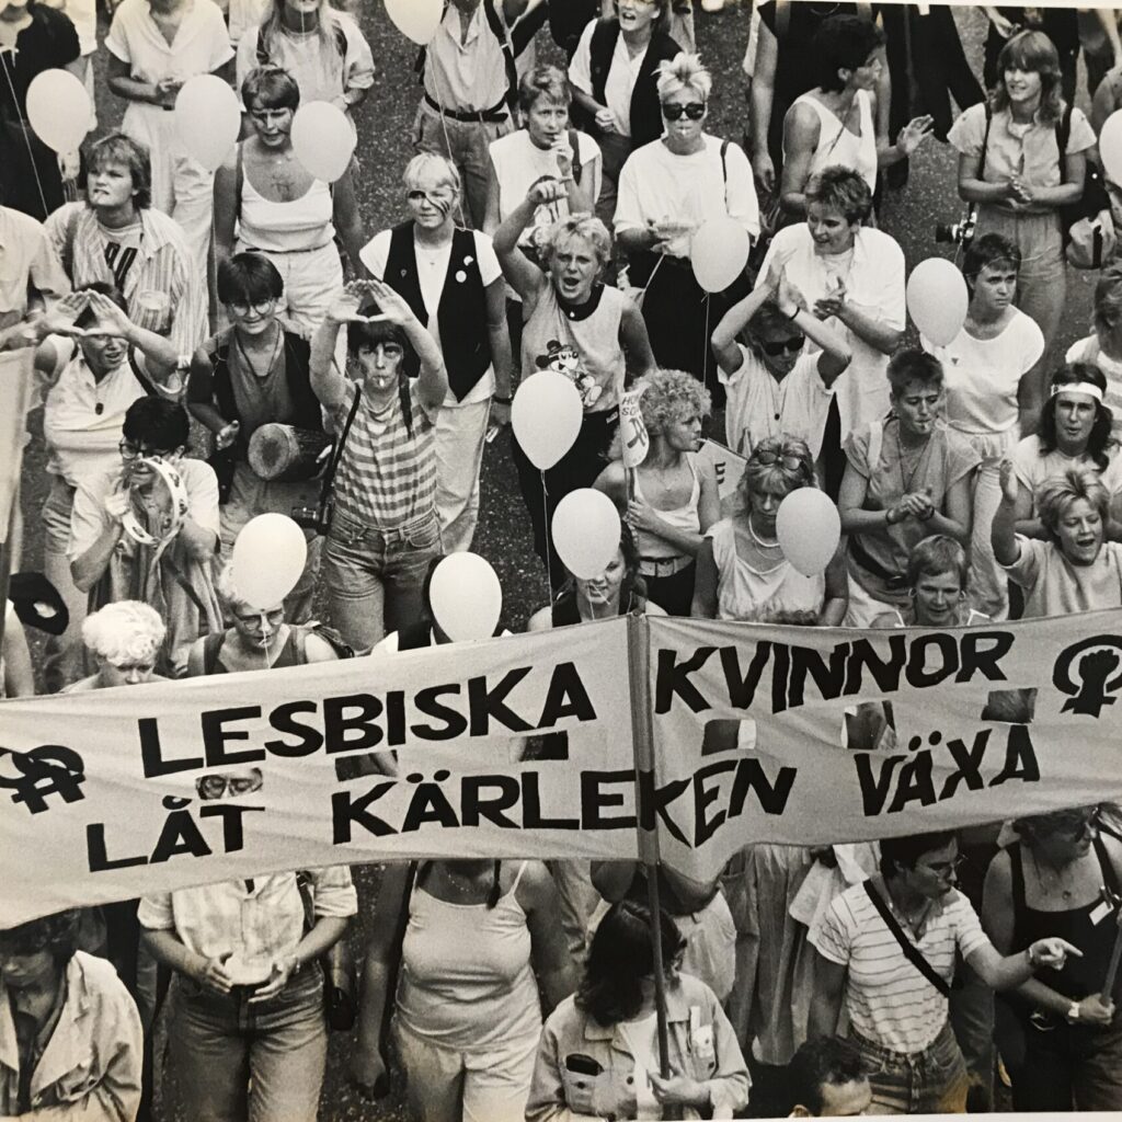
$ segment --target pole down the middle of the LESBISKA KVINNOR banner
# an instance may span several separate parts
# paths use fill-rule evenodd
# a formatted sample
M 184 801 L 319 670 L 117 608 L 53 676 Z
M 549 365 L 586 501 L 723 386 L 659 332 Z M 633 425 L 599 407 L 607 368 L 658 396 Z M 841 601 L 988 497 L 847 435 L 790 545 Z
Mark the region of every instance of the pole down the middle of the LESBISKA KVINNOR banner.
M 659 1032 L 659 1070 L 670 1078 L 669 1038 L 666 1034 L 666 981 L 662 959 L 661 904 L 659 900 L 659 831 L 643 828 L 643 782 L 641 775 L 654 776 L 654 728 L 651 707 L 650 626 L 642 611 L 627 616 L 627 675 L 631 684 L 632 745 L 635 753 L 635 829 L 638 859 L 646 874 L 647 905 L 651 909 L 651 944 L 654 953 L 654 1002 Z M 669 1109 L 669 1107 L 668 1107 Z M 671 1118 L 663 1110 L 663 1118 Z

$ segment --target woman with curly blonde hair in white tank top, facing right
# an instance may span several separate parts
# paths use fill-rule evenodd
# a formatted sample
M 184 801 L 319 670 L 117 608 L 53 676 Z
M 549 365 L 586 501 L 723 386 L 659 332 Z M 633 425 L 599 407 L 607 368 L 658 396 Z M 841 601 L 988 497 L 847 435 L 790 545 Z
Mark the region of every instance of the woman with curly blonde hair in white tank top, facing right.
M 693 603 L 697 555 L 705 532 L 720 517 L 717 477 L 698 461 L 701 421 L 711 408 L 708 392 L 682 370 L 657 370 L 640 398 L 651 438 L 629 493 L 623 460 L 596 480 L 635 532 L 638 571 L 649 597 L 672 616 L 688 616 Z

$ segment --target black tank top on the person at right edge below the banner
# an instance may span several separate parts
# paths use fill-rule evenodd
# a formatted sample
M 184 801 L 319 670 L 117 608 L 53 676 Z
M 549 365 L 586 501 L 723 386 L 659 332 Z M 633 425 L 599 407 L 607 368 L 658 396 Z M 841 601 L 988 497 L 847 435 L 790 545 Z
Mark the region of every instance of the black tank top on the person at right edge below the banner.
M 1119 891 L 1118 874 L 1111 864 L 1106 847 L 1100 837 L 1096 837 L 1093 844 L 1103 873 L 1103 883 L 1116 893 Z M 1114 937 L 1118 934 L 1113 914 L 1095 923 L 1091 917 L 1092 912 L 1100 905 L 1098 900 L 1093 900 L 1082 908 L 1070 908 L 1066 911 L 1038 911 L 1030 908 L 1024 899 L 1023 845 L 1019 843 L 1011 845 L 1009 859 L 1013 874 L 1013 944 L 1010 949 L 1013 953 L 1024 950 L 1037 939 L 1046 939 L 1051 936 L 1067 939 L 1068 942 L 1083 951 L 1083 957 L 1070 956 L 1061 971 L 1045 971 L 1040 975 L 1040 981 L 1050 990 L 1055 990 L 1073 1001 L 1078 1001 L 1092 993 L 1098 993 L 1106 976 L 1106 965 L 1110 962 Z M 1012 995 L 1005 996 L 1012 997 Z M 1116 1005 L 1122 1005 L 1122 975 L 1114 983 L 1112 996 Z M 1015 999 L 1013 1002 L 1019 1010 L 1028 1013 L 1028 1009 L 1018 1003 Z M 1115 1013 L 1114 1023 L 1119 1024 L 1120 1019 L 1122 1019 L 1120 1014 Z M 1096 1031 L 1091 1026 L 1073 1026 L 1073 1028 Z

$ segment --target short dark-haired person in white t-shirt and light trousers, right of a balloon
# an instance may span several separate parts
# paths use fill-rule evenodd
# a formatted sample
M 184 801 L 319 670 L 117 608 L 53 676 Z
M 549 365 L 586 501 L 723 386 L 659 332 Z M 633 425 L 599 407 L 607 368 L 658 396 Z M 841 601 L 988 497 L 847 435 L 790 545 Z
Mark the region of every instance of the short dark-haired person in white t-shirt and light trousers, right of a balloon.
M 922 339 L 942 366 L 946 422 L 981 458 L 971 516 L 971 586 L 975 607 L 992 619 L 1009 615 L 1005 574 L 990 546 L 990 524 L 1001 502 L 997 466 L 1040 416 L 1038 364 L 1045 338 L 1013 304 L 1021 270 L 1012 239 L 1000 233 L 975 238 L 963 263 L 969 304 L 962 330 L 945 346 Z

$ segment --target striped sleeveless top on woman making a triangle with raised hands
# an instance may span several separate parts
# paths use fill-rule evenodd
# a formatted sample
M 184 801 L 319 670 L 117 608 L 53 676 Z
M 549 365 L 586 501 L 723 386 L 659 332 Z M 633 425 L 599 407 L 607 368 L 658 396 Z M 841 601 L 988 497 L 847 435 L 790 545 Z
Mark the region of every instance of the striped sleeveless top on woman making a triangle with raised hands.
M 356 384 L 348 381 L 346 399 L 334 417 L 339 432 L 347 422 L 356 393 Z M 435 509 L 435 411 L 425 411 L 416 380 L 410 381 L 410 403 L 412 436 L 405 427 L 402 403 L 396 394 L 380 413 L 375 412 L 364 395 L 339 463 L 334 487 L 339 509 L 378 530 L 395 530 Z

